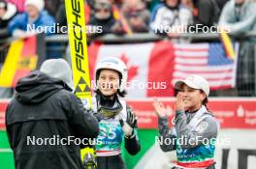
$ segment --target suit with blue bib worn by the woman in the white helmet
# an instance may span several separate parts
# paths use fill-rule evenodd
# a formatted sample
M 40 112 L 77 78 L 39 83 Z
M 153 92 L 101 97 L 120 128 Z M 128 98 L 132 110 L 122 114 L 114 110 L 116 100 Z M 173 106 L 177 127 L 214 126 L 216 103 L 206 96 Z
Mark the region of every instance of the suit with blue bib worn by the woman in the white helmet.
M 132 109 L 117 96 L 111 100 L 99 93 L 92 99 L 92 104 L 93 111 L 103 115 L 103 119 L 99 122 L 98 144 L 95 146 L 97 168 L 125 169 L 126 167 L 121 157 L 121 144 L 124 133 L 120 118 L 123 122 L 126 122 L 127 114 Z M 141 150 L 137 127 L 133 129 L 132 136 L 129 138 L 124 136 L 124 142 L 125 148 L 130 155 L 136 155 Z

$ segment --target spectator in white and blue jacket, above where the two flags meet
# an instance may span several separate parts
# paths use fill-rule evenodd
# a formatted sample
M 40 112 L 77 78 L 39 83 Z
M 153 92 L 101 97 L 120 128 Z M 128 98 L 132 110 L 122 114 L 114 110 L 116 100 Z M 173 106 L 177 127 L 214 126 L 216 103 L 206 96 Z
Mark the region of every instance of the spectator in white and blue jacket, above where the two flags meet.
M 151 14 L 150 28 L 157 34 L 176 38 L 192 22 L 191 11 L 180 5 L 178 0 L 164 0 Z

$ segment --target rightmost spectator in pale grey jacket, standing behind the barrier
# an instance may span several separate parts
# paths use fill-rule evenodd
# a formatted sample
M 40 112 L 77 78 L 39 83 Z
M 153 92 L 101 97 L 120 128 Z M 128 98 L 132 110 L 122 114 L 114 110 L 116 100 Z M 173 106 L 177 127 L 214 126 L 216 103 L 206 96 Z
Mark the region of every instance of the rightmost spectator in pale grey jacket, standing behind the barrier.
M 219 27 L 227 27 L 231 33 L 256 31 L 256 3 L 251 0 L 231 0 L 224 6 Z M 224 27 L 224 28 L 223 28 Z M 256 38 L 240 42 L 237 86 L 240 97 L 255 96 L 255 43 Z

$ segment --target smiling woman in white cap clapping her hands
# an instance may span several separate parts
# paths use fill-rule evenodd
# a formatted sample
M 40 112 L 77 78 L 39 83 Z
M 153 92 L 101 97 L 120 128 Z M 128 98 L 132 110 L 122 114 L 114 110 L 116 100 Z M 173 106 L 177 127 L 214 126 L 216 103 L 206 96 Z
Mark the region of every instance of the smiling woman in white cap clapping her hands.
M 176 116 L 174 127 L 169 129 L 166 109 L 155 100 L 161 139 L 171 139 L 162 144 L 164 152 L 176 150 L 175 169 L 214 169 L 215 139 L 219 124 L 208 111 L 208 81 L 199 75 L 190 75 L 177 81 Z M 165 143 L 165 141 L 163 141 Z

